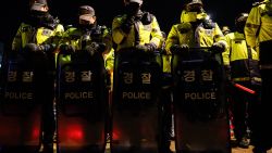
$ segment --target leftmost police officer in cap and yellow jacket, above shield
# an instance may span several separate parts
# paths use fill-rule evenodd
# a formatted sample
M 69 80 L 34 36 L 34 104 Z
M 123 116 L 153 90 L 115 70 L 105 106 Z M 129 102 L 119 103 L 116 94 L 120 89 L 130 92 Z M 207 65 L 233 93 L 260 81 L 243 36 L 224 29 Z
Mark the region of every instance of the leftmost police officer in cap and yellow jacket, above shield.
M 64 27 L 60 24 L 60 21 L 50 14 L 47 1 L 34 1 L 29 16 L 20 25 L 13 38 L 12 50 L 21 51 L 27 43 L 53 44 L 52 48 L 54 49 L 63 31 Z M 41 48 L 37 49 L 49 49 L 48 47 L 41 46 Z

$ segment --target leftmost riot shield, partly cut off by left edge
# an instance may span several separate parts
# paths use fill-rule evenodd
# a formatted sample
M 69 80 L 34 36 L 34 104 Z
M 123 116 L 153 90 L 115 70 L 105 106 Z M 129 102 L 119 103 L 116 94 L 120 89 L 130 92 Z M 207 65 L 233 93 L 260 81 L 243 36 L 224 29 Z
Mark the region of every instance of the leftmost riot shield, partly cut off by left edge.
M 0 103 L 0 152 L 37 153 L 48 101 L 48 60 L 44 52 L 9 55 Z

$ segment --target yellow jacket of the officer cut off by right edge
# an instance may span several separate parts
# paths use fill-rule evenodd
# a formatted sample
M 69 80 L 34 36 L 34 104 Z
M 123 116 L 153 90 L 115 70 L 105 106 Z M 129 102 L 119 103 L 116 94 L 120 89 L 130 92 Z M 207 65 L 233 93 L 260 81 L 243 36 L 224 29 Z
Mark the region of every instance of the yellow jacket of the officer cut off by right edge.
M 247 43 L 258 51 L 259 43 L 272 40 L 272 7 L 269 0 L 255 3 L 245 27 Z

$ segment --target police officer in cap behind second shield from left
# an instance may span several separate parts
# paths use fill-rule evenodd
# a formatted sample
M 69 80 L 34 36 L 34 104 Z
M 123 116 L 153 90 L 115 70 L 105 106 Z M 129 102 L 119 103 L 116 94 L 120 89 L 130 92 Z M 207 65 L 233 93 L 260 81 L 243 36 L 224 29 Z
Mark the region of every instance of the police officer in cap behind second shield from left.
M 112 71 L 114 50 L 111 30 L 98 25 L 95 9 L 81 5 L 78 9 L 78 24 L 65 30 L 61 50 L 88 50 L 90 54 L 101 52 L 104 56 L 106 68 Z

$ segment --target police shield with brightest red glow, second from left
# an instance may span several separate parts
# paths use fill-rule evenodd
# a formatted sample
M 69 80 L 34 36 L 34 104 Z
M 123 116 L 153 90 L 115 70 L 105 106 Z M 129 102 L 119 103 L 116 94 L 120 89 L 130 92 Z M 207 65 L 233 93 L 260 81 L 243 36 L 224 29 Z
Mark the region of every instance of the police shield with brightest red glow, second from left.
M 64 62 L 64 59 L 69 59 Z M 58 152 L 102 153 L 108 91 L 101 53 L 82 50 L 58 55 Z

